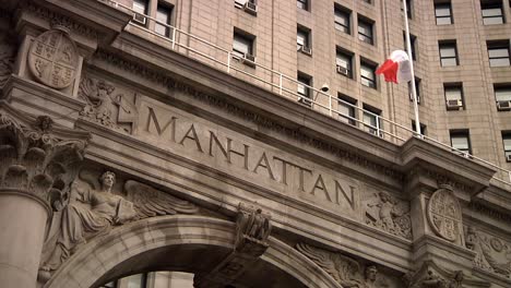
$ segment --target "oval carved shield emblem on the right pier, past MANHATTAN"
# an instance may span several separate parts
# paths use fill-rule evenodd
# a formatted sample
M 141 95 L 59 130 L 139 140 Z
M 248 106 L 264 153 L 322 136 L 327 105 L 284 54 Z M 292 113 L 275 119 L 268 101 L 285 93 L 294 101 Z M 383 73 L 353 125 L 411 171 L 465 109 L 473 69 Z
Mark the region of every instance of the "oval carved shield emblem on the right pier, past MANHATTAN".
M 451 187 L 442 185 L 432 194 L 428 203 L 428 219 L 438 236 L 452 242 L 460 237 L 461 208 Z

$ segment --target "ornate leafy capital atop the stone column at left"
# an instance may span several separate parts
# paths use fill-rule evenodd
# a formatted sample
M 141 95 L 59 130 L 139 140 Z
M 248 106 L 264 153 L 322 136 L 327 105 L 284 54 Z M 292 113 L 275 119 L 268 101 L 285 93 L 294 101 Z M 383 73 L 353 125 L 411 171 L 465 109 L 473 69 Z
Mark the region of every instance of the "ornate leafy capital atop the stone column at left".
M 83 159 L 88 133 L 52 127 L 0 103 L 0 193 L 28 193 L 59 209 Z

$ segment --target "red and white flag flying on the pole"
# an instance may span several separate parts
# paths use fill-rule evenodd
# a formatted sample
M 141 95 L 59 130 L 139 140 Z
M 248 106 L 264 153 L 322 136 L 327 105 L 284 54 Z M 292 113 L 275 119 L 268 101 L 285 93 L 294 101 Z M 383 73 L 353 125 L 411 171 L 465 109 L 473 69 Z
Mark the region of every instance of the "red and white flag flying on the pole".
M 383 74 L 387 82 L 407 83 L 412 80 L 412 67 L 408 55 L 403 50 L 395 50 L 390 58 L 376 71 L 377 74 Z

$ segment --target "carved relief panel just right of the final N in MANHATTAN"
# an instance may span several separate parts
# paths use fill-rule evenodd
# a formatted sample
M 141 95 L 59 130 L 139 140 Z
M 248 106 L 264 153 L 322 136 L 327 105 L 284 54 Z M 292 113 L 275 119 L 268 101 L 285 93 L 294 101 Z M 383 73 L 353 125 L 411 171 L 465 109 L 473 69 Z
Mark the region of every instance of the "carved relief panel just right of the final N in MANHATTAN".
M 399 237 L 412 239 L 412 221 L 407 202 L 380 191 L 366 194 L 363 207 L 367 225 Z

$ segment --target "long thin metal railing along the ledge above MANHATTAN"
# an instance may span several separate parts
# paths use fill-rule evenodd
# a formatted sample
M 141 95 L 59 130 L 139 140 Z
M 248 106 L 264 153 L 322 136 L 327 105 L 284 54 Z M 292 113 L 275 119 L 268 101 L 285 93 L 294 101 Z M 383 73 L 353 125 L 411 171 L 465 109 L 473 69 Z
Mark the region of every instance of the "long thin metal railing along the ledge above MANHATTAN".
M 115 7 L 119 10 L 127 11 L 128 13 L 133 14 L 133 17 L 136 16 L 138 20 L 143 19 L 144 21 L 139 21 L 139 23 L 132 21 L 130 25 L 136 25 L 138 27 L 144 29 L 148 35 L 157 37 L 166 43 L 169 43 L 170 48 L 177 52 L 182 52 L 179 50 L 179 48 L 182 48 L 185 52 L 187 53 L 191 52 L 198 57 L 205 58 L 207 61 L 211 61 L 210 64 L 216 64 L 217 68 L 221 67 L 222 69 L 225 69 L 227 73 L 233 74 L 235 71 L 236 73 L 239 73 L 241 75 L 247 75 L 252 80 L 261 82 L 263 85 L 268 85 L 269 87 L 274 88 L 277 94 L 284 97 L 298 100 L 305 106 L 308 106 L 309 108 L 317 110 L 318 112 L 326 113 L 337 121 L 346 122 L 347 120 L 352 125 L 358 129 L 365 130 L 376 136 L 393 141 L 394 143 L 396 142 L 403 143 L 407 141 L 408 139 L 411 139 L 412 136 L 416 136 L 416 137 L 423 139 L 424 141 L 428 141 L 441 148 L 444 148 L 454 154 L 457 154 L 461 157 L 466 157 L 466 158 L 476 160 L 478 163 L 485 164 L 487 166 L 490 166 L 491 168 L 497 170 L 497 173 L 494 176 L 494 180 L 511 187 L 511 171 L 508 169 L 501 168 L 485 159 L 478 158 L 474 155 L 470 155 L 465 152 L 453 148 L 450 145 L 447 145 L 432 137 L 418 135 L 414 130 L 406 128 L 402 124 L 395 123 L 394 121 L 387 119 L 384 117 L 381 117 L 378 113 L 371 112 L 367 109 L 363 109 L 348 101 L 334 97 L 321 89 L 317 89 L 310 85 L 298 82 L 295 77 L 285 75 L 280 71 L 275 71 L 271 68 L 262 65 L 258 63 L 257 61 L 251 61 L 246 58 L 242 58 L 238 53 L 233 53 L 231 50 L 223 48 L 218 45 L 215 45 L 206 39 L 203 39 L 193 34 L 181 31 L 169 24 L 162 23 L 157 21 L 156 19 L 151 17 L 148 15 L 140 14 L 135 12 L 133 9 L 131 9 L 130 7 L 123 5 L 117 1 L 114 1 L 114 0 L 98 0 L 98 1 L 104 2 L 108 5 Z M 166 29 L 170 31 L 171 33 L 168 33 L 167 35 L 161 35 L 147 28 L 151 25 L 151 22 L 153 23 L 152 25 L 155 25 L 155 23 L 157 23 L 158 25 L 165 26 Z M 182 37 L 185 39 L 181 39 L 180 37 L 181 35 L 186 36 L 186 37 Z M 197 48 L 191 47 L 191 45 L 189 44 L 187 45 L 186 44 L 187 37 L 188 39 L 193 39 L 200 44 L 205 45 L 207 47 L 206 51 L 201 51 Z M 216 52 L 225 53 L 224 57 L 221 57 L 224 60 L 218 60 L 214 56 L 211 56 L 212 51 L 214 51 L 215 53 Z M 194 59 L 201 60 L 200 58 L 197 58 L 197 57 Z M 233 60 L 239 63 L 233 63 Z M 245 65 L 243 63 L 248 65 Z M 257 70 L 251 69 L 249 70 L 250 72 L 247 72 L 245 69 L 246 67 L 251 67 L 251 68 L 253 67 L 253 68 L 257 68 Z M 265 77 L 263 77 L 264 75 Z M 276 79 L 277 81 L 274 81 L 274 79 Z M 297 92 L 298 85 L 305 86 L 309 93 L 306 95 L 299 94 Z M 338 106 L 340 104 L 352 107 L 353 110 L 358 111 L 358 115 L 363 116 L 363 119 L 364 119 L 364 115 L 372 118 L 373 121 L 371 122 L 375 122 L 375 124 L 360 120 L 357 117 L 352 117 L 349 115 L 342 113 L 341 111 L 335 109 L 335 106 Z

